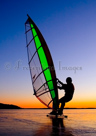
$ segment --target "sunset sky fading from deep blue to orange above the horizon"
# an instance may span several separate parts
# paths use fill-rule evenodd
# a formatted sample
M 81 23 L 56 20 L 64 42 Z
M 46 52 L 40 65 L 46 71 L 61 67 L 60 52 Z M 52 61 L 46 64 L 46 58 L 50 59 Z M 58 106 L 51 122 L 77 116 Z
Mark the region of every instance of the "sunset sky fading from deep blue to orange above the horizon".
M 0 1 L 0 103 L 44 108 L 33 95 L 25 21 L 34 20 L 51 52 L 56 76 L 75 85 L 66 107 L 96 108 L 96 0 Z M 64 90 L 58 90 L 59 97 Z

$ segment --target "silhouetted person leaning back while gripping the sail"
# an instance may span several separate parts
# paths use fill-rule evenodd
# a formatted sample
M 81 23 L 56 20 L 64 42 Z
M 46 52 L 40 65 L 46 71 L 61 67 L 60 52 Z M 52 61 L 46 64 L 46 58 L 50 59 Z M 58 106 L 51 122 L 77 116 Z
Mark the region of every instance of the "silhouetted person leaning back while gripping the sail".
M 65 95 L 61 99 L 59 99 L 59 104 L 61 103 L 61 107 L 58 110 L 59 115 L 63 114 L 63 108 L 65 106 L 65 103 L 72 100 L 74 90 L 75 90 L 74 85 L 72 83 L 72 78 L 71 77 L 66 78 L 66 83 L 67 84 L 64 84 L 59 79 L 57 79 L 57 88 L 60 89 L 60 90 L 61 89 L 65 90 Z

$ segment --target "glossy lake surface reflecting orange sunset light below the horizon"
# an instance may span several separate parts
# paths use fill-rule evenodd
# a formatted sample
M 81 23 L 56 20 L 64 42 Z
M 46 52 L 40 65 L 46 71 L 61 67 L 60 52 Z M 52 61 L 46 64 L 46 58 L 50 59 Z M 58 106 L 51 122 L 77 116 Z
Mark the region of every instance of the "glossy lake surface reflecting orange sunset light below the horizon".
M 50 119 L 49 112 L 0 109 L 0 136 L 96 136 L 96 109 L 65 109 L 64 119 Z

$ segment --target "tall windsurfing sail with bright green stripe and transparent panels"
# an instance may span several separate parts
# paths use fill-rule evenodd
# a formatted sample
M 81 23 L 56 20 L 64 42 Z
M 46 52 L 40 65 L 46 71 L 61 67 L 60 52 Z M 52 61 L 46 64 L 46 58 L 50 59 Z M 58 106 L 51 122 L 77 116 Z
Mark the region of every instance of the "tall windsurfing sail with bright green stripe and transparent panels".
M 58 91 L 52 57 L 40 30 L 27 16 L 25 34 L 34 95 L 48 108 L 57 109 Z

